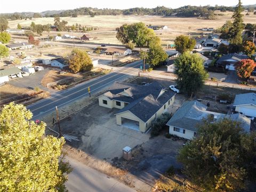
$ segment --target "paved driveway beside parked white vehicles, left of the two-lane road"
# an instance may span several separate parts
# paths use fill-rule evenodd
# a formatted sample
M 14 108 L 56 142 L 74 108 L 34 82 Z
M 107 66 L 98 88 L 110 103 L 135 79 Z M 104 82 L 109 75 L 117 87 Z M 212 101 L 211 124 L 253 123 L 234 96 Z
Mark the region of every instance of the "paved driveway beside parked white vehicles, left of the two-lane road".
M 41 81 L 44 75 L 47 74 L 49 71 L 50 69 L 44 69 L 27 77 L 15 78 L 8 82 L 8 84 L 22 88 L 24 87 L 27 89 L 34 89 L 35 87 L 39 87 L 40 89 L 47 91 L 48 89 L 45 86 L 41 85 Z

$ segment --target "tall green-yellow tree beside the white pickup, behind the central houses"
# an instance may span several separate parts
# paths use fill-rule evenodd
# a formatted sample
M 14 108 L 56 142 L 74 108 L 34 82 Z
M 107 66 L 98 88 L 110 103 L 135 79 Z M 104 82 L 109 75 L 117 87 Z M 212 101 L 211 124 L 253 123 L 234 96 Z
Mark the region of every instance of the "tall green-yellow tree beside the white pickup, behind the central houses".
M 179 89 L 190 97 L 203 86 L 207 77 L 203 59 L 199 54 L 190 54 L 189 52 L 185 52 L 175 59 L 174 73 L 177 75 Z

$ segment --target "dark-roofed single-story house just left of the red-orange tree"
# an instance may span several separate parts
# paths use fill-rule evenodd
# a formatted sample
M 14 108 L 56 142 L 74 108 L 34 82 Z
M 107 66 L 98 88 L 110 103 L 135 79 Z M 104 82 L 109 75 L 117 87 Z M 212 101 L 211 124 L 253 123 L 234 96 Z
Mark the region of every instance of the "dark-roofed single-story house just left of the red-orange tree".
M 229 53 L 226 55 L 222 55 L 221 58 L 219 58 L 216 61 L 216 65 L 226 67 L 228 70 L 235 70 L 235 65 L 238 61 L 241 61 L 242 59 L 247 59 L 247 55 L 242 55 L 238 53 Z

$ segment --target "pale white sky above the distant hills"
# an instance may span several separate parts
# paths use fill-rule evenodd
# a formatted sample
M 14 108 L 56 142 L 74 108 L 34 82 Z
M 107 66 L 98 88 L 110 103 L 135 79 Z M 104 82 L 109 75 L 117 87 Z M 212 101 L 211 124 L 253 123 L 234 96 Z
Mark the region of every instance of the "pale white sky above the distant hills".
M 110 9 L 129 9 L 133 7 L 153 8 L 166 6 L 172 9 L 184 5 L 225 5 L 234 6 L 238 0 L 7 0 L 0 2 L 0 13 L 42 12 L 47 10 L 68 10 L 79 7 L 97 7 Z M 243 5 L 254 4 L 255 0 L 242 0 Z

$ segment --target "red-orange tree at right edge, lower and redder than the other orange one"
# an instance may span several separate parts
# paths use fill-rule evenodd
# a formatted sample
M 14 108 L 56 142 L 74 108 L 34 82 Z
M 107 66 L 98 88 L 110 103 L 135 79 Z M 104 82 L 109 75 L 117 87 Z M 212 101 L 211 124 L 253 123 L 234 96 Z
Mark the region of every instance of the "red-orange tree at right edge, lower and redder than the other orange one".
M 248 78 L 256 67 L 256 63 L 251 59 L 243 59 L 236 64 L 236 72 L 238 77 Z

